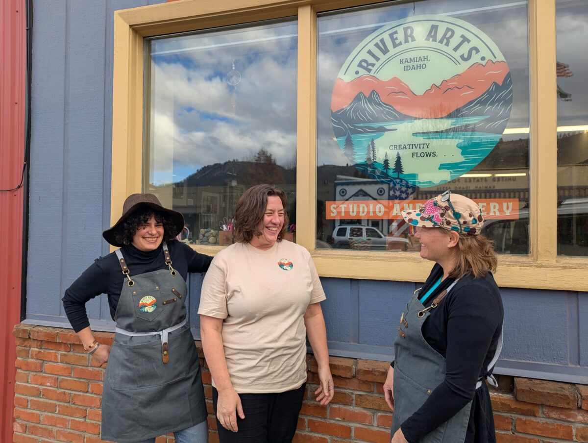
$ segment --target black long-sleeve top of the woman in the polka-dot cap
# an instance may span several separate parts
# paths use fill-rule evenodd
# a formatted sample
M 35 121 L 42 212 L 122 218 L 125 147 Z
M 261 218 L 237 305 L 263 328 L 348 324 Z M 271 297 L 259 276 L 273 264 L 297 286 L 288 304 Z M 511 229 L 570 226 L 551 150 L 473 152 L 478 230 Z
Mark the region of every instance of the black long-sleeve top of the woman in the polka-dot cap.
M 420 294 L 443 275 L 433 267 Z M 445 279 L 425 300 L 429 306 L 453 279 Z M 445 380 L 427 398 L 425 404 L 400 428 L 409 443 L 417 443 L 457 414 L 473 399 L 466 431 L 466 443 L 493 443 L 495 439 L 492 404 L 486 384 L 476 389 L 478 379 L 496 352 L 502 330 L 504 310 L 500 292 L 492 277 L 459 279 L 422 327 L 423 338 L 446 359 Z

